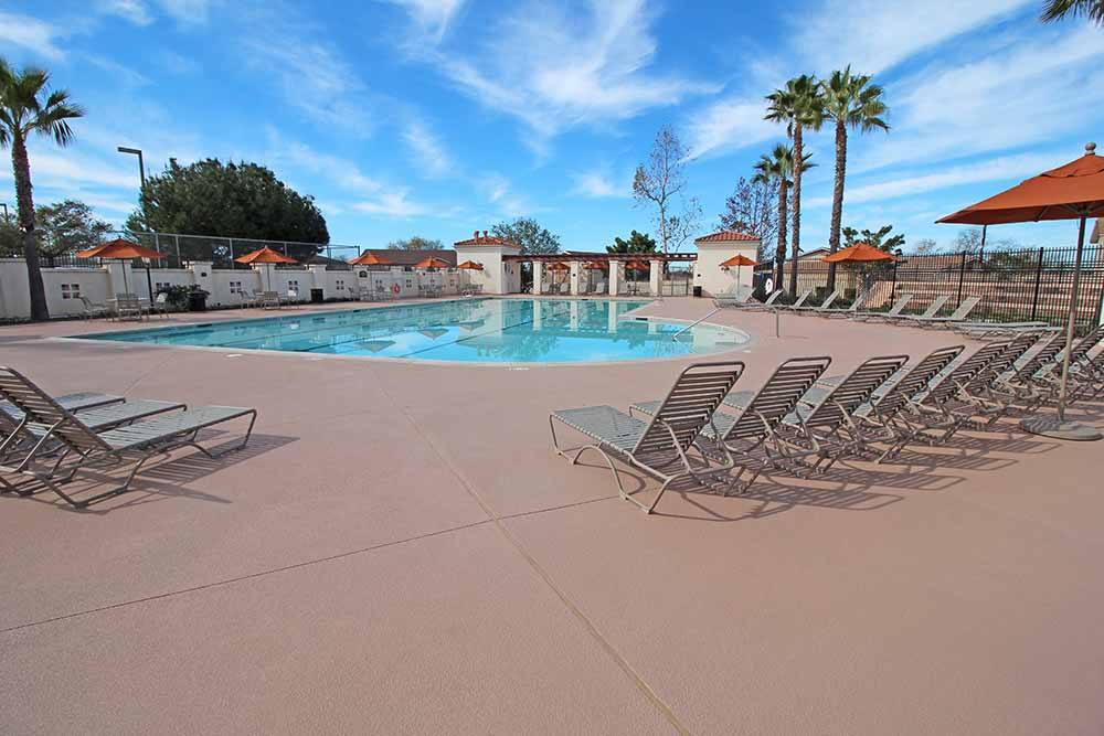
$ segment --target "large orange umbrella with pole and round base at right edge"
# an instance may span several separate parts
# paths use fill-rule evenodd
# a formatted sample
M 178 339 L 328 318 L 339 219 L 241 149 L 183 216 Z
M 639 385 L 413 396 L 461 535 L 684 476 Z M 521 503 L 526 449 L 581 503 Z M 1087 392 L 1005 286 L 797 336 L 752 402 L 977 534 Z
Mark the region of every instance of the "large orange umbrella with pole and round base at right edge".
M 1101 433 L 1076 422 L 1065 420 L 1070 381 L 1070 351 L 1078 321 L 1078 290 L 1081 286 L 1081 257 L 1085 247 L 1085 222 L 1104 216 L 1104 158 L 1096 156 L 1096 143 L 1085 146 L 1085 153 L 1069 163 L 1026 179 L 1016 186 L 987 200 L 940 218 L 941 223 L 1000 225 L 1041 220 L 1078 220 L 1078 254 L 1070 287 L 1070 317 L 1065 324 L 1065 350 L 1062 382 L 1058 397 L 1058 417 L 1036 416 L 1023 419 L 1023 429 L 1058 439 L 1101 439 Z

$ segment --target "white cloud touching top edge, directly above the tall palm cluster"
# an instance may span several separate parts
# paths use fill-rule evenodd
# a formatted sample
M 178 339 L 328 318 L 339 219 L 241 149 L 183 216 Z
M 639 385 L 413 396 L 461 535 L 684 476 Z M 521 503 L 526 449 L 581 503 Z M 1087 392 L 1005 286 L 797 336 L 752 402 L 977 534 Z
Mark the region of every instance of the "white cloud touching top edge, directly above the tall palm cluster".
M 877 74 L 922 51 L 1016 12 L 1031 0 L 828 0 L 792 22 L 810 70 L 850 64 Z

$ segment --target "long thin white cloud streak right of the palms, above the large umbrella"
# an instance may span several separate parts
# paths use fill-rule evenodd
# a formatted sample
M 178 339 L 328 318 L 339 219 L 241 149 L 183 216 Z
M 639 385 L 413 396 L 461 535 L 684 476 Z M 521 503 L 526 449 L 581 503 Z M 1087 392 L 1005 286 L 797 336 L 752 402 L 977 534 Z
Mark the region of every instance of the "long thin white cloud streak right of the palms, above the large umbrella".
M 1066 158 L 1072 159 L 1075 157 L 1070 156 Z M 902 196 L 914 196 L 924 192 L 962 184 L 1026 179 L 1041 171 L 1053 169 L 1055 166 L 1064 163 L 1065 160 L 1062 158 L 1061 152 L 1053 151 L 1006 156 L 990 161 L 951 167 L 941 171 L 894 177 L 887 181 L 850 186 L 847 189 L 845 196 L 848 204 L 860 204 L 862 202 L 879 202 Z M 827 206 L 831 204 L 831 198 L 809 198 L 807 201 L 803 201 L 803 204 L 808 204 L 809 207 Z

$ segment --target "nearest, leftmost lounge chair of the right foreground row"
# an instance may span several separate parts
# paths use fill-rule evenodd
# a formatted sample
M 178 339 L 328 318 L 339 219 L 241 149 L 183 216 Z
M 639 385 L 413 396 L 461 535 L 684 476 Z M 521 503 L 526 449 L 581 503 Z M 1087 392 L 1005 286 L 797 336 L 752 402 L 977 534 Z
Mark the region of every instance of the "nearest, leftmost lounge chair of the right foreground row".
M 702 430 L 712 422 L 716 407 L 735 385 L 743 371 L 744 364 L 739 361 L 691 365 L 679 374 L 649 422 L 625 414 L 613 406 L 588 406 L 553 412 L 549 415 L 552 446 L 556 455 L 567 457 L 567 454 L 560 448 L 556 438 L 556 423 L 592 439 L 592 444 L 584 445 L 575 451 L 571 458 L 572 465 L 578 461 L 578 456 L 583 451 L 596 450 L 605 458 L 606 465 L 613 472 L 620 497 L 631 501 L 645 513 L 651 513 L 672 482 L 689 479 L 708 482 L 716 473 L 731 470 L 731 458 L 726 457 L 724 462 L 713 465 L 709 461 L 709 456 L 702 454 L 699 462 L 694 465 L 687 454 L 699 441 Z M 716 433 L 713 435 L 715 437 Z M 625 491 L 614 458 L 662 481 L 651 503 L 641 503 Z

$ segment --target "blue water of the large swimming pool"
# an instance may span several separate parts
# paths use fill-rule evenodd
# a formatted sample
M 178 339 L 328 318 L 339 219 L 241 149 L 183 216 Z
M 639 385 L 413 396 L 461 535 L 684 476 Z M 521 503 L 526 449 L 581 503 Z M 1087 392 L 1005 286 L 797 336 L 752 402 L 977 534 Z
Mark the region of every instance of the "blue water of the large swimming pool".
M 412 360 L 580 363 L 732 350 L 736 330 L 624 317 L 644 301 L 464 299 L 87 335 L 94 340 Z

